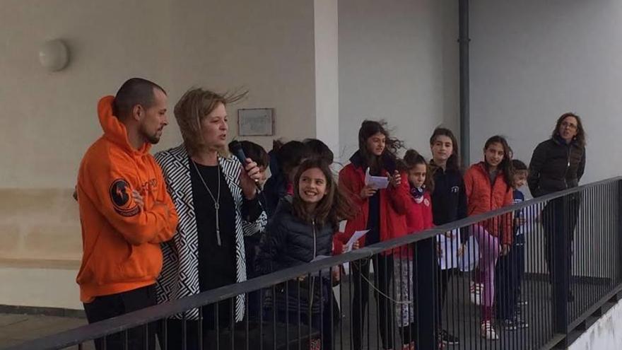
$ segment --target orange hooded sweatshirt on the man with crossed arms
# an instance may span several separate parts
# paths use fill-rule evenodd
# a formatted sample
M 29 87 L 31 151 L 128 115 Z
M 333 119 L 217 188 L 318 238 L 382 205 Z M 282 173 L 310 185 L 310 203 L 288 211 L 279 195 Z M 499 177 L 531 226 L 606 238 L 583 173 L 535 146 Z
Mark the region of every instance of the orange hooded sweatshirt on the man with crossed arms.
M 76 281 L 83 303 L 155 284 L 162 269 L 160 243 L 177 227 L 151 145 L 131 147 L 125 125 L 112 115 L 114 99 L 106 96 L 98 104 L 104 134 L 88 148 L 78 172 L 83 256 Z M 134 189 L 143 209 L 132 199 Z

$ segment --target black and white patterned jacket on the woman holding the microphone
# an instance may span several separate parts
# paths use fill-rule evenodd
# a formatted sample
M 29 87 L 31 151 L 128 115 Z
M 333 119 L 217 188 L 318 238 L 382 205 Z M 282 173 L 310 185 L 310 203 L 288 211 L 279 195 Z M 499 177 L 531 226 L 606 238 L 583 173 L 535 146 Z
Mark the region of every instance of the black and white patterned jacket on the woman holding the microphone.
M 192 199 L 188 157 L 183 144 L 155 153 L 155 161 L 162 168 L 168 193 L 175 204 L 180 219 L 173 239 L 162 244 L 163 267 L 157 282 L 158 303 L 199 293 L 199 238 Z M 246 281 L 244 237 L 263 231 L 264 226 L 266 226 L 266 214 L 262 212 L 257 221 L 254 222 L 243 220 L 243 194 L 239 185 L 242 165 L 234 157 L 218 157 L 218 163 L 235 202 L 235 279 L 237 282 L 242 282 Z M 240 322 L 244 317 L 244 302 L 244 296 L 237 296 L 235 301 L 236 322 Z M 174 317 L 198 320 L 199 310 L 188 310 L 183 315 L 179 314 Z

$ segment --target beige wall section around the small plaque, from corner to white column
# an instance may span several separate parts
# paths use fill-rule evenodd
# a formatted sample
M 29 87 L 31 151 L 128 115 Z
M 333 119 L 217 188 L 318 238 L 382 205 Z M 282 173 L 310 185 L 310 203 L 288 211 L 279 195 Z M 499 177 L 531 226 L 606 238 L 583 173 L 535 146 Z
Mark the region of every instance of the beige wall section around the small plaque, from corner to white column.
M 190 86 L 245 88 L 248 99 L 228 107 L 232 136 L 237 134 L 237 108 L 274 107 L 276 136 L 239 139 L 271 149 L 278 136 L 315 137 L 313 5 L 287 0 L 172 1 L 172 100 Z

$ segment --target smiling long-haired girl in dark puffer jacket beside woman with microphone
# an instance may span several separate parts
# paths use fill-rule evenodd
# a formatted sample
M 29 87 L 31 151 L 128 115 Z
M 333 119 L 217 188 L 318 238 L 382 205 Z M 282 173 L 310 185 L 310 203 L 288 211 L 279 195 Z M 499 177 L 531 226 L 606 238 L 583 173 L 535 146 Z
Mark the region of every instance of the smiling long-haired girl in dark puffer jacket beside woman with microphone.
M 331 255 L 339 221 L 351 216 L 348 198 L 339 192 L 329 165 L 320 159 L 304 161 L 295 175 L 293 196 L 279 202 L 266 227 L 259 262 L 265 272 L 307 264 Z M 301 276 L 276 287 L 277 318 L 322 330 L 322 349 L 331 349 L 332 327 L 329 272 Z

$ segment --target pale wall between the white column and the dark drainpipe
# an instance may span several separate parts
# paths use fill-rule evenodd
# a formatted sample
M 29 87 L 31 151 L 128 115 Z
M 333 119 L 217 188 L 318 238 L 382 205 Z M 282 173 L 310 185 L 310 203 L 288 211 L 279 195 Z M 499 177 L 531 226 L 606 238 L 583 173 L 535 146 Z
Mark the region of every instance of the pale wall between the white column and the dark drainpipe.
M 428 155 L 439 124 L 458 132 L 457 1 L 339 1 L 341 161 L 363 119 L 385 119 Z

